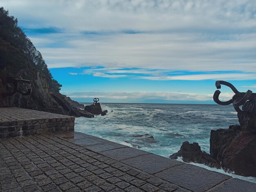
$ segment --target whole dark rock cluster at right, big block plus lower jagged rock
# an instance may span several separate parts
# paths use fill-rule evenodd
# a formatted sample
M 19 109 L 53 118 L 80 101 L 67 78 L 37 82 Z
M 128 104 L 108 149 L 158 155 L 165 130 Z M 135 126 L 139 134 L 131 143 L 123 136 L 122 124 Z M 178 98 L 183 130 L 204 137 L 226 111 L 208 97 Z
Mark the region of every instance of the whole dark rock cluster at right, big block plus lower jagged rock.
M 185 162 L 204 163 L 235 174 L 256 177 L 256 101 L 248 100 L 243 110 L 250 114 L 238 113 L 240 125 L 211 130 L 210 155 L 201 151 L 198 143 L 186 141 L 170 158 L 182 156 Z

